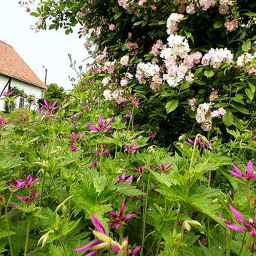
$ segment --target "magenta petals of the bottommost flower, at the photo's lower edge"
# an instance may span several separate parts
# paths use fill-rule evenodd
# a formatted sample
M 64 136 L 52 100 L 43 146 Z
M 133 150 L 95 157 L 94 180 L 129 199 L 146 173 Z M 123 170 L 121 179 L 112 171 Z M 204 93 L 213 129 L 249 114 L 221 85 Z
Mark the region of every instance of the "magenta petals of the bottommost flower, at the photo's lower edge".
M 91 215 L 91 221 L 93 222 L 94 227 L 99 233 L 102 233 L 106 236 L 105 228 L 103 227 L 102 223 L 95 215 Z M 106 242 L 102 240 L 96 240 L 94 242 L 90 242 L 88 245 L 85 245 L 81 248 L 76 248 L 75 251 L 85 251 L 87 249 L 93 250 L 90 253 L 86 254 L 85 256 L 92 256 L 95 255 L 100 249 L 105 248 Z

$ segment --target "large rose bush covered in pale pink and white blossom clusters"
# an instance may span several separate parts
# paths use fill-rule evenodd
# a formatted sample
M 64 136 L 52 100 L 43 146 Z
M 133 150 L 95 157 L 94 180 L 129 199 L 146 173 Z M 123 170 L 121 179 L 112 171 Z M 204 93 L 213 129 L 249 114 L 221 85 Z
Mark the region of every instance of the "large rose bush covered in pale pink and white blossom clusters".
M 136 121 L 166 137 L 254 118 L 253 1 L 44 1 L 36 29 L 80 24 L 96 61 L 91 80 L 122 111 L 141 102 Z M 87 84 L 87 80 L 84 83 Z M 224 136 L 228 137 L 227 133 Z M 168 142 L 167 142 L 168 143 Z

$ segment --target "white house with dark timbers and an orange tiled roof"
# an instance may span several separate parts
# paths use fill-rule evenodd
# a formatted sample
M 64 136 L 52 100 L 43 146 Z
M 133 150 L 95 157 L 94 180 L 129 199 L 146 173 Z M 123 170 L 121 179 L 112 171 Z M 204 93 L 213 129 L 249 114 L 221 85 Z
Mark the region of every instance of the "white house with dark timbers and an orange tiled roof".
M 0 41 L 0 111 L 5 111 L 5 101 L 1 99 L 14 87 L 23 90 L 26 96 L 35 96 L 36 101 L 43 98 L 44 91 L 47 90 L 44 82 L 35 75 L 14 48 Z M 26 96 L 17 96 L 14 100 L 15 108 L 29 106 Z M 35 109 L 38 105 L 29 107 Z

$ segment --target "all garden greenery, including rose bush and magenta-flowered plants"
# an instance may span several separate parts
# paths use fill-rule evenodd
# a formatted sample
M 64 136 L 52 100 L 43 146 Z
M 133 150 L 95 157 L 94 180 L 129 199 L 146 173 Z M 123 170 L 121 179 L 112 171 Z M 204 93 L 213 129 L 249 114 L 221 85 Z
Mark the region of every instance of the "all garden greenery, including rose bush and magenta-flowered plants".
M 81 24 L 96 60 L 0 119 L 0 253 L 253 254 L 254 5 L 42 1 L 34 28 Z

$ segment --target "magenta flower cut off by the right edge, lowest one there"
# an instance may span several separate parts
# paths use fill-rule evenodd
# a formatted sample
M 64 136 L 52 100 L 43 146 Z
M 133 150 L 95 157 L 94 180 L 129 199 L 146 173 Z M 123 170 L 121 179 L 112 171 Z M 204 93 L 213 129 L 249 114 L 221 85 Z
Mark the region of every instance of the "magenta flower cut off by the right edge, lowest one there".
M 236 221 L 241 222 L 244 227 L 231 225 L 231 224 L 227 224 L 226 226 L 233 230 L 248 232 L 251 234 L 251 236 L 256 236 L 256 214 L 254 216 L 254 220 L 252 218 L 249 218 L 249 221 L 246 221 L 239 211 L 233 208 L 233 206 L 231 205 L 229 206 L 230 206 L 231 212 L 233 212 L 233 215 L 235 215 L 236 217 Z

